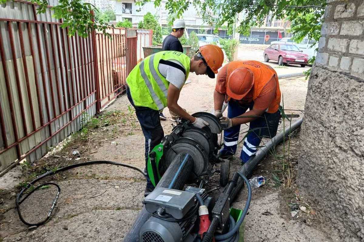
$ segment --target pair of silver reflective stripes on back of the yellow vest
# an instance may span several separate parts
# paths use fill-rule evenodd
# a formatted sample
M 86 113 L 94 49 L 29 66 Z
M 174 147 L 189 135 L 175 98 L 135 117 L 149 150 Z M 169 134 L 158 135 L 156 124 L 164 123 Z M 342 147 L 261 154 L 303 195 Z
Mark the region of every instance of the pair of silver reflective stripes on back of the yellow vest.
M 164 85 L 162 79 L 157 74 L 157 71 L 154 68 L 153 61 L 154 61 L 154 55 L 152 55 L 150 57 L 150 59 L 149 59 L 149 69 L 150 69 L 150 72 L 151 72 L 154 80 L 157 82 L 159 88 L 163 92 L 164 97 L 166 98 L 168 91 L 167 91 L 166 86 Z M 163 109 L 164 108 L 164 105 L 162 104 L 161 99 L 159 99 L 159 97 L 155 93 L 155 91 L 153 89 L 153 86 L 152 86 L 152 83 L 150 82 L 149 78 L 147 77 L 147 74 L 145 73 L 145 70 L 144 70 L 144 61 L 142 61 L 140 63 L 139 69 L 140 69 L 140 73 L 141 73 L 141 75 L 142 75 L 142 77 L 144 79 L 144 82 L 147 85 L 147 87 L 149 89 L 149 92 L 150 92 L 150 94 L 151 94 L 151 96 L 153 98 L 153 101 L 155 102 L 155 104 L 157 105 L 157 107 L 158 107 L 159 110 Z

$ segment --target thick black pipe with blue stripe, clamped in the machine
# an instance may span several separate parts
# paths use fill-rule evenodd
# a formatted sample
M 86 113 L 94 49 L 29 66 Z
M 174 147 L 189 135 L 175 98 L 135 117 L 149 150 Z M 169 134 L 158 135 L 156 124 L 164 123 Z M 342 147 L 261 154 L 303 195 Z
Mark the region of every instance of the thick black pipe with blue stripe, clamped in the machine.
M 158 182 L 156 188 L 168 188 L 181 190 L 186 183 L 186 180 L 191 175 L 193 168 L 193 159 L 187 153 L 178 154 L 172 163 L 167 168 L 166 172 Z M 186 159 L 186 160 L 185 160 Z M 150 218 L 151 214 L 143 207 L 142 211 L 138 214 L 137 220 L 131 226 L 131 229 L 124 237 L 125 242 L 139 242 L 139 232 L 143 224 Z

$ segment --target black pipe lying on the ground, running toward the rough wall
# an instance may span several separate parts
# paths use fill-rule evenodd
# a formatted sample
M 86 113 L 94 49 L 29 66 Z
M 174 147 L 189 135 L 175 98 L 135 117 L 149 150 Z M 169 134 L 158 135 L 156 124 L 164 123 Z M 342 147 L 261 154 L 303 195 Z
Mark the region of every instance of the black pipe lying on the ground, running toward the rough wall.
M 287 137 L 292 131 L 299 128 L 302 124 L 302 119 L 294 122 L 290 128 L 286 129 L 285 132 L 280 132 L 276 136 L 274 136 L 268 143 L 264 145 L 264 147 L 258 149 L 255 156 L 248 160 L 239 170 L 244 176 L 249 177 L 249 175 L 252 173 L 253 169 L 257 167 L 257 165 L 260 163 L 262 159 L 266 157 L 266 155 L 269 154 L 269 152 L 273 151 L 273 149 L 283 141 L 283 137 Z M 230 197 L 230 204 L 232 204 L 234 198 L 236 195 L 240 192 L 242 186 L 244 185 L 243 180 L 241 177 L 239 177 L 239 180 L 237 182 L 237 186 L 235 187 L 232 196 Z

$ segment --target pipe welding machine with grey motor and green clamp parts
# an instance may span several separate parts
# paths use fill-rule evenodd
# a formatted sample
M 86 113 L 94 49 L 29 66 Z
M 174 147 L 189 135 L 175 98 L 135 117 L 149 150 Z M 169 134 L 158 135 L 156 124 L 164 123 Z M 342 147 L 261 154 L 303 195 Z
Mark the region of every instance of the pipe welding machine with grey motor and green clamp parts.
M 230 198 L 233 200 L 234 188 L 242 175 L 236 172 L 229 181 L 230 161 L 219 158 L 221 145 L 217 134 L 221 133 L 222 127 L 218 118 L 207 112 L 192 116 L 202 118 L 210 125 L 195 128 L 190 121 L 182 120 L 152 149 L 147 171 L 156 188 L 143 200 L 145 209 L 124 239 L 141 242 L 238 241 L 238 227 L 245 214 L 240 216 L 239 223 L 229 211 Z M 217 200 L 209 193 L 218 187 L 209 191 L 204 189 L 214 173 L 220 173 L 220 185 L 225 187 Z

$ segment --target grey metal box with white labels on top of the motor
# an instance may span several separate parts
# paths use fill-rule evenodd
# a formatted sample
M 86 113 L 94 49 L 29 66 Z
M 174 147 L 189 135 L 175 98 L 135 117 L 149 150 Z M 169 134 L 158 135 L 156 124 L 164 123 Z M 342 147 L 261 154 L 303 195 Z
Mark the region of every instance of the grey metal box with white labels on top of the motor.
M 156 188 L 143 200 L 143 204 L 149 213 L 154 213 L 162 207 L 165 213 L 175 219 L 181 219 L 195 204 L 195 194 L 169 188 Z

